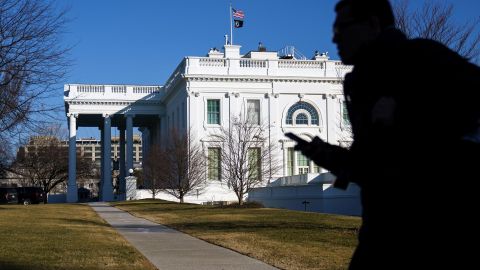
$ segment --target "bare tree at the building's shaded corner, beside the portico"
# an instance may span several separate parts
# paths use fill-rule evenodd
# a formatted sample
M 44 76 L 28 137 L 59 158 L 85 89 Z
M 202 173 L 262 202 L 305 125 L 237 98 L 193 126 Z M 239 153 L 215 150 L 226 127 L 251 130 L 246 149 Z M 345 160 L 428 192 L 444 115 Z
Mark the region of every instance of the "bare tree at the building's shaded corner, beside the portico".
M 186 195 L 206 187 L 206 156 L 191 132 L 170 131 L 168 145 L 152 147 L 146 160 L 146 179 L 153 189 L 161 189 L 184 202 Z M 148 177 L 148 179 L 147 179 Z

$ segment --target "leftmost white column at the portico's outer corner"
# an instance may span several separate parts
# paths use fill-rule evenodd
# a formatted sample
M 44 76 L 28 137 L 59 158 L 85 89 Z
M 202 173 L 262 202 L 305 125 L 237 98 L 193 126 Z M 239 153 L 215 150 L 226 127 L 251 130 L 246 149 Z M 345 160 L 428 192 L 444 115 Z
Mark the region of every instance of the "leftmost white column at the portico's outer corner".
M 77 114 L 69 113 L 70 136 L 68 142 L 67 202 L 77 202 Z

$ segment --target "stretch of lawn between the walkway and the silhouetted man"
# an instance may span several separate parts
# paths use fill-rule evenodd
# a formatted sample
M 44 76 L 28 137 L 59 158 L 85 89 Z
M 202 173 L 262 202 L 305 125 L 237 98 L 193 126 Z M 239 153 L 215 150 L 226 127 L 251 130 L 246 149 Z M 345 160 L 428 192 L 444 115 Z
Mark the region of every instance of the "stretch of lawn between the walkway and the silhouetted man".
M 346 269 L 361 222 L 358 217 L 160 200 L 114 205 L 283 269 Z

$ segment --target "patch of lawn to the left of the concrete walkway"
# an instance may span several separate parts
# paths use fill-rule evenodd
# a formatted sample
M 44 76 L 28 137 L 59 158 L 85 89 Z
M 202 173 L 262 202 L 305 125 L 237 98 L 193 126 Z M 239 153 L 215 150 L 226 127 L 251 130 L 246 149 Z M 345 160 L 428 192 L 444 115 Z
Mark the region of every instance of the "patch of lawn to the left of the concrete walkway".
M 156 269 L 86 205 L 0 205 L 0 269 Z

